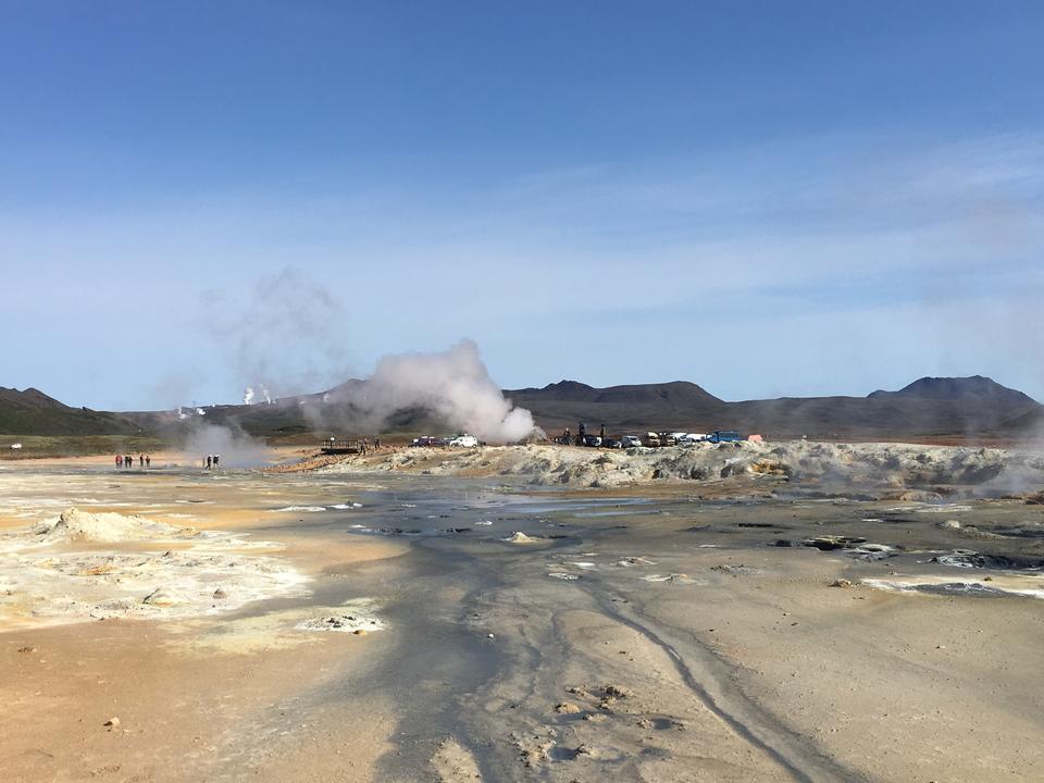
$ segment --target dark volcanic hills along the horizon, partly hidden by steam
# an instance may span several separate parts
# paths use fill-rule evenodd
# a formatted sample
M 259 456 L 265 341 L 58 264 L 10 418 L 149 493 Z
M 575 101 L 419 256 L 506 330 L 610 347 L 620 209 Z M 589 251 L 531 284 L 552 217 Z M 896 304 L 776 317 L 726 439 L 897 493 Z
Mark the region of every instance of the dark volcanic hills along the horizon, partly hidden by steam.
M 276 400 L 273 405 L 215 406 L 204 417 L 170 411 L 107 413 L 70 408 L 37 389 L 0 388 L 0 433 L 11 435 L 121 435 L 142 431 L 177 439 L 200 419 L 241 428 L 259 437 L 301 435 L 334 430 L 348 435 L 357 411 L 339 390 L 365 382 L 349 381 L 324 394 Z M 537 423 L 555 434 L 575 432 L 583 421 L 591 431 L 601 424 L 612 433 L 648 430 L 709 432 L 739 430 L 769 438 L 996 437 L 1020 439 L 1044 435 L 1044 408 L 1029 396 L 981 375 L 923 377 L 898 391 L 866 397 L 782 397 L 726 402 L 696 384 L 675 381 L 596 388 L 560 381 L 543 388 L 506 389 L 515 405 L 527 408 Z M 363 425 L 369 426 L 369 425 Z M 440 423 L 423 410 L 403 410 L 386 431 L 436 433 Z M 359 433 L 357 433 L 359 434 Z M 372 433 L 369 433 L 372 434 Z

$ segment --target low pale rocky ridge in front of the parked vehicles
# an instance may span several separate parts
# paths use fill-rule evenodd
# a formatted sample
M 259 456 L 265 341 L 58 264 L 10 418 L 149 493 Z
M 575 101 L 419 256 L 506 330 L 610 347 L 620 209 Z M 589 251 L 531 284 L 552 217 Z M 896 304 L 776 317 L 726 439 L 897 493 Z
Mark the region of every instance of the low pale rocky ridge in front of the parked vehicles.
M 1044 484 L 1044 457 L 1005 449 L 906 444 L 699 444 L 602 450 L 532 444 L 501 448 L 410 448 L 345 458 L 326 473 L 405 471 L 518 476 L 537 486 L 621 487 L 671 481 L 704 487 L 733 476 L 784 480 L 804 493 L 905 496 L 1016 492 Z

